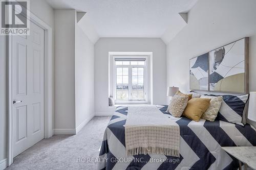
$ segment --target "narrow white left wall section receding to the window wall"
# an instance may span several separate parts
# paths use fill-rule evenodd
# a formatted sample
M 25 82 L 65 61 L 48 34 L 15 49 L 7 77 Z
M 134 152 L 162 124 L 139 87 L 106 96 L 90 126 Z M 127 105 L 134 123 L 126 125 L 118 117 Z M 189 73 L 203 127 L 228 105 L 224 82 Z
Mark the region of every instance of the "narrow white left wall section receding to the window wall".
M 94 43 L 78 25 L 75 53 L 76 128 L 80 130 L 94 116 Z

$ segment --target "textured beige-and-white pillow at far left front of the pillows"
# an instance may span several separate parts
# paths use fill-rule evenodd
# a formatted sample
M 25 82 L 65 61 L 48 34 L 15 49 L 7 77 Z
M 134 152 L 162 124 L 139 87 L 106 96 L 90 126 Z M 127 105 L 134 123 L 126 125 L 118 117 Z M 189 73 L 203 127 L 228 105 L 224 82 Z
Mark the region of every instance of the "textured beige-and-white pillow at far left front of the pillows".
M 180 117 L 187 106 L 188 96 L 174 95 L 169 104 L 169 113 Z

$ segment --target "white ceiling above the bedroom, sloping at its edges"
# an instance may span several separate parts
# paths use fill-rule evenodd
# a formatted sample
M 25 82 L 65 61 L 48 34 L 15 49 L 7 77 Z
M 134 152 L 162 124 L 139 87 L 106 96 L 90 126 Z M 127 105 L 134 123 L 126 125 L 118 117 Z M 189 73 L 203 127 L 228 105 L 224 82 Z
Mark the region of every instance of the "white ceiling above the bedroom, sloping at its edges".
M 162 37 L 197 0 L 47 0 L 54 9 L 87 12 L 99 37 Z M 178 24 L 178 23 L 177 23 Z M 174 29 L 175 30 L 175 29 Z

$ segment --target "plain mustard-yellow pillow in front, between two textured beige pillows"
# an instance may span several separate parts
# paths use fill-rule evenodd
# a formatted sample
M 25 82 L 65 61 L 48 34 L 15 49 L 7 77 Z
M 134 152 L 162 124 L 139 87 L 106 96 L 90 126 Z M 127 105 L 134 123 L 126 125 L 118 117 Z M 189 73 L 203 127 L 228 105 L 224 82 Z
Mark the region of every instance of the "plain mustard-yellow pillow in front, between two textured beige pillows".
M 193 98 L 187 102 L 183 115 L 198 122 L 209 106 L 210 99 Z

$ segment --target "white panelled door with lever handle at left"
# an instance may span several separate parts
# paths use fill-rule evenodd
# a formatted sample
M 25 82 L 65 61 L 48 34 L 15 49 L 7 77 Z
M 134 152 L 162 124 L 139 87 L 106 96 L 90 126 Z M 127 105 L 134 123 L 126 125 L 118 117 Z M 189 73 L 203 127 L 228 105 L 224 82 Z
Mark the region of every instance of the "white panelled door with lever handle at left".
M 12 36 L 13 157 L 44 139 L 44 34 Z

